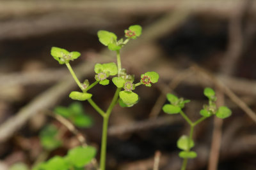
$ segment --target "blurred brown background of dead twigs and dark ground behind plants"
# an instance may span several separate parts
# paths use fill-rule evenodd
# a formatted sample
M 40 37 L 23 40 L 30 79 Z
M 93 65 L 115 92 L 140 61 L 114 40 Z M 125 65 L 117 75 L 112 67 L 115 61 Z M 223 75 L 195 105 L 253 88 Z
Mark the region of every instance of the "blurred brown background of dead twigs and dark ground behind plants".
M 44 111 L 72 103 L 68 94 L 76 84 L 65 65 L 51 57 L 51 47 L 81 52 L 70 64 L 81 81 L 93 82 L 95 63 L 115 62 L 115 53 L 99 43 L 97 31 L 122 38 L 124 29 L 134 24 L 143 32 L 122 49 L 122 66 L 136 81 L 147 71 L 156 71 L 160 78 L 151 88 L 136 89 L 138 104 L 113 110 L 107 169 L 152 169 L 157 150 L 159 169 L 180 169 L 176 141 L 189 127 L 180 115 L 161 111 L 167 103 L 164 94 L 190 99 L 184 111 L 196 120 L 207 103 L 204 87 L 216 89 L 218 104 L 228 106 L 232 117 L 209 118 L 196 127 L 198 157 L 189 160 L 188 169 L 256 169 L 253 0 L 1 0 L 0 169 L 15 162 L 31 167 L 42 152 L 40 129 L 49 123 L 61 128 Z M 92 89 L 93 100 L 106 110 L 114 88 L 98 85 Z M 94 125 L 79 131 L 98 148 L 99 160 L 102 118 L 88 103 L 83 106 Z M 79 145 L 70 132 L 63 141 L 45 159 Z

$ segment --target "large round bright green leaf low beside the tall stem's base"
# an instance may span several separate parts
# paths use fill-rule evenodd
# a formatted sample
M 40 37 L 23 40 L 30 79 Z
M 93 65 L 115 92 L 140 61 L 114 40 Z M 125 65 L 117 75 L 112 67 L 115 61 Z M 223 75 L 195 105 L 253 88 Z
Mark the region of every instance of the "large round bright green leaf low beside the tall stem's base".
M 89 164 L 96 155 L 96 149 L 92 146 L 78 146 L 68 151 L 67 160 L 76 167 Z

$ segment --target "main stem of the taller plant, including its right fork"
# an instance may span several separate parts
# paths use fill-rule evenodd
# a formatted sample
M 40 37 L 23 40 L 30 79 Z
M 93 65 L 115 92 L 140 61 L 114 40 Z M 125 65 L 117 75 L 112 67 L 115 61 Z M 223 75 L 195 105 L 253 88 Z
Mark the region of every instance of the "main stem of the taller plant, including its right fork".
M 102 139 L 101 139 L 101 151 L 100 151 L 100 170 L 105 169 L 106 165 L 106 152 L 107 152 L 107 139 L 108 139 L 108 119 L 113 110 L 118 97 L 119 92 L 122 90 L 121 88 L 116 89 L 115 95 L 106 111 L 106 114 L 103 117 L 103 126 L 102 126 Z

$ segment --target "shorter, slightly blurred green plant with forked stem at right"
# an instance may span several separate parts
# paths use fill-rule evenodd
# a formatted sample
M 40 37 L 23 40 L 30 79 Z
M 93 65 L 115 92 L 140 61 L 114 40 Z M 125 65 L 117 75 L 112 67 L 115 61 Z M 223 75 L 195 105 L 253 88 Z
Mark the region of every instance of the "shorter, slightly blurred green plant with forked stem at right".
M 209 99 L 209 103 L 204 105 L 204 108 L 200 110 L 200 115 L 202 116 L 195 122 L 192 122 L 187 115 L 182 111 L 186 103 L 189 103 L 189 100 L 184 100 L 182 98 L 178 98 L 173 94 L 167 94 L 167 100 L 170 104 L 164 104 L 163 111 L 168 114 L 177 114 L 180 113 L 182 117 L 188 122 L 190 125 L 190 132 L 189 136 L 182 135 L 179 140 L 177 141 L 177 147 L 182 150 L 179 153 L 179 157 L 183 159 L 182 163 L 182 170 L 186 169 L 188 159 L 194 159 L 197 157 L 197 153 L 191 151 L 193 148 L 194 141 L 193 141 L 193 132 L 196 125 L 200 122 L 205 120 L 206 118 L 211 117 L 212 115 L 216 115 L 218 118 L 227 118 L 231 115 L 231 110 L 228 109 L 226 106 L 220 106 L 219 108 L 216 106 L 216 96 L 214 90 L 207 87 L 204 89 L 204 95 Z

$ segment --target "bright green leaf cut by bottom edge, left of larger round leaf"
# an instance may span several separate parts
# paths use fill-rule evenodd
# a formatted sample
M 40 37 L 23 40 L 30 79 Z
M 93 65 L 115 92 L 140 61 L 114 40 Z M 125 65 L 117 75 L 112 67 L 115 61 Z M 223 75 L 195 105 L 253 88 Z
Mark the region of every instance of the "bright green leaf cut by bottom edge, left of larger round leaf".
M 63 159 L 63 157 L 55 156 L 49 159 L 44 166 L 45 170 L 68 170 L 68 163 Z

